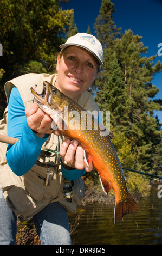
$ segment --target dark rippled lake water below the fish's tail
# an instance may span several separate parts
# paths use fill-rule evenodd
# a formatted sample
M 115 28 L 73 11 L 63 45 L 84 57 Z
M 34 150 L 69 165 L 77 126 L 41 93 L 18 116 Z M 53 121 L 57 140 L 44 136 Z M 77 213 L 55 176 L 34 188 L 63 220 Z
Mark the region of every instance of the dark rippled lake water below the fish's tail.
M 114 205 L 93 204 L 80 209 L 73 245 L 160 245 L 162 244 L 162 198 L 158 185 L 148 198 L 141 198 L 141 211 L 125 215 L 114 224 Z M 69 217 L 69 221 L 74 216 Z

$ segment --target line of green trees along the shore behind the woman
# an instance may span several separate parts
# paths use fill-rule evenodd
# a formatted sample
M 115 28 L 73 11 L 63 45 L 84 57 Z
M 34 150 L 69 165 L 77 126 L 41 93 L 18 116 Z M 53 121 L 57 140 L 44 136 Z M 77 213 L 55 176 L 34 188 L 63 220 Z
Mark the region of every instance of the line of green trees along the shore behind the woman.
M 0 0 L 0 115 L 7 106 L 4 83 L 29 72 L 55 72 L 59 45 L 78 31 L 74 10 L 63 10 L 59 0 Z M 114 4 L 102 0 L 94 24 L 104 59 L 95 81 L 95 100 L 101 110 L 111 112 L 113 144 L 122 166 L 162 174 L 161 124 L 154 110 L 161 110 L 161 100 L 153 100 L 158 88 L 152 84 L 162 63 L 154 65 L 155 56 L 146 57 L 147 47 L 141 36 L 127 30 L 121 33 L 113 21 Z M 87 33 L 90 27 L 87 21 Z M 92 174 L 89 174 L 92 175 Z M 129 187 L 141 193 L 147 179 L 126 174 Z

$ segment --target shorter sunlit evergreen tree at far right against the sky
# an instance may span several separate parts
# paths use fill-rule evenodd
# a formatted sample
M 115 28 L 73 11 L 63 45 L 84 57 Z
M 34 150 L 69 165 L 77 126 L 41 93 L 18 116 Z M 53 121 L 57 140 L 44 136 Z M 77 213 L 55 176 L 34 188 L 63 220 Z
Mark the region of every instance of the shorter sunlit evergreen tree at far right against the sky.
M 150 96 L 154 97 L 158 92 L 151 81 L 154 74 L 162 69 L 162 63 L 153 66 L 155 56 L 141 57 L 147 47 L 144 47 L 140 39 L 141 36 L 133 35 L 132 31 L 125 31 L 122 38 L 116 40 L 115 52 L 122 69 L 127 99 L 127 115 L 125 113 L 125 119 L 121 120 L 125 135 L 133 142 L 132 150 L 137 155 L 136 168 L 151 171 L 154 166 L 154 150 L 160 143 L 160 131 L 153 110 L 161 109 L 158 102 L 150 99 Z

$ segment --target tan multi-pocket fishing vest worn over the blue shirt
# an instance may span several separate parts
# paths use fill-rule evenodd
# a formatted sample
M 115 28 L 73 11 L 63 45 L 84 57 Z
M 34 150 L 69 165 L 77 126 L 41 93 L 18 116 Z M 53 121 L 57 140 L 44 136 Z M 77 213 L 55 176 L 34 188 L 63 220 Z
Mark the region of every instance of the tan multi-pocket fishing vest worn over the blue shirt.
M 37 85 L 36 90 L 41 93 L 43 81 L 46 80 L 51 84 L 55 84 L 56 77 L 56 74 L 27 74 L 14 78 L 5 84 L 7 100 L 9 101 L 11 89 L 15 86 L 21 94 L 24 106 L 27 107 L 33 103 L 30 87 Z M 82 93 L 76 102 L 86 110 L 99 111 L 98 106 L 88 92 Z M 5 109 L 4 117 L 0 121 L 0 133 L 2 135 L 7 135 L 7 115 L 8 107 Z M 63 139 L 62 136 L 52 134 L 43 146 L 51 150 L 60 151 Z M 61 173 L 61 165 L 44 167 L 34 164 L 27 173 L 17 176 L 7 164 L 6 150 L 7 144 L 0 143 L 0 186 L 2 186 L 3 196 L 9 207 L 21 220 L 29 220 L 47 204 L 56 201 L 68 211 L 76 212 L 76 205 L 81 203 L 81 199 L 84 196 L 81 178 L 74 180 L 73 198 L 72 202 L 70 202 L 63 192 L 64 176 Z M 60 156 L 55 153 L 48 156 L 46 151 L 41 151 L 38 161 L 43 164 L 59 164 Z

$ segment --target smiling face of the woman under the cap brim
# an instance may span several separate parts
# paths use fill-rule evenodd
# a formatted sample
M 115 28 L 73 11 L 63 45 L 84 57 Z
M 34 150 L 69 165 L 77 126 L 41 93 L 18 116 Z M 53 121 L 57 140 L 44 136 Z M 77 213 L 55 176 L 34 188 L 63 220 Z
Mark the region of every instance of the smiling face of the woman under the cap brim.
M 78 46 L 69 46 L 57 58 L 56 88 L 76 100 L 98 76 L 98 64 L 92 53 Z

